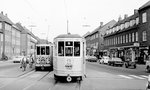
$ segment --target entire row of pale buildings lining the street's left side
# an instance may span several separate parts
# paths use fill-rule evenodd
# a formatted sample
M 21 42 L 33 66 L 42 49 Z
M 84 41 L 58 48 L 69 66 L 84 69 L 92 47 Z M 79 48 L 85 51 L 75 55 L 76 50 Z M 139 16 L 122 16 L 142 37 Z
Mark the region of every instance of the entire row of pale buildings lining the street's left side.
M 35 53 L 37 38 L 21 24 L 14 24 L 7 14 L 0 13 L 0 59 L 11 59 L 13 56 Z M 34 50 L 33 50 L 34 49 Z

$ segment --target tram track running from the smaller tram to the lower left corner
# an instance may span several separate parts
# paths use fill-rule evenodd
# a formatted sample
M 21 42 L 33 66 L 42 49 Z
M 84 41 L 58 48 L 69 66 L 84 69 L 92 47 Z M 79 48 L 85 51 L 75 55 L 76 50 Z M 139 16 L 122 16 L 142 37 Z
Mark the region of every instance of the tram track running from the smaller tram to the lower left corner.
M 35 71 L 28 72 L 26 74 L 20 75 L 15 80 L 13 80 L 13 81 L 11 81 L 9 83 L 6 83 L 5 85 L 1 86 L 0 90 L 1 89 L 3 90 L 3 88 L 5 90 L 10 90 L 10 89 L 7 89 L 8 87 L 9 88 L 12 87 L 11 90 L 16 90 L 17 87 L 13 87 L 13 86 L 16 86 L 16 85 L 21 85 L 21 87 L 19 87 L 20 90 L 28 90 L 30 87 L 32 87 L 37 82 L 41 81 L 44 77 L 46 77 L 49 73 L 50 72 L 45 72 L 44 74 L 43 74 L 43 72 L 35 72 Z M 28 80 L 30 82 L 25 83 Z M 21 83 L 25 83 L 25 84 L 21 84 Z

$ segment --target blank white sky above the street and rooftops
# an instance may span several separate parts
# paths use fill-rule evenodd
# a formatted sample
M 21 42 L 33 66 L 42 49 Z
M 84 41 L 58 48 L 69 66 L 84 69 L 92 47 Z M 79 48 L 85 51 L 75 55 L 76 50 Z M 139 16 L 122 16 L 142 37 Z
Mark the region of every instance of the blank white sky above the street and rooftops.
M 133 15 L 148 0 L 0 0 L 0 12 L 36 36 L 53 42 L 67 33 L 83 36 L 118 17 Z M 85 27 L 87 26 L 87 27 Z

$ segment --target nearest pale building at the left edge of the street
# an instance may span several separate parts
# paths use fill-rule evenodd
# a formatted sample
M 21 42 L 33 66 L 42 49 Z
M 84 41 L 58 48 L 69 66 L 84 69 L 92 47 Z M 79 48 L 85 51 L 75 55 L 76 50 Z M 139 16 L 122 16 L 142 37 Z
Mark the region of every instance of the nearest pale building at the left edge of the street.
M 13 55 L 20 55 L 20 31 L 8 18 L 7 14 L 0 13 L 0 58 L 12 58 Z

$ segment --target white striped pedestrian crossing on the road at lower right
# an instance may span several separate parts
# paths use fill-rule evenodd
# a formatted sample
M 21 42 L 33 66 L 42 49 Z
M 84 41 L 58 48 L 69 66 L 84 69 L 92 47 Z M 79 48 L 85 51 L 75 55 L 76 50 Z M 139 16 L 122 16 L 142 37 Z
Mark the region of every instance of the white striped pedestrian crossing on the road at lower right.
M 136 76 L 136 75 L 118 75 L 122 78 L 126 78 L 126 79 L 147 79 L 148 76 L 146 75 L 139 75 L 139 76 Z

